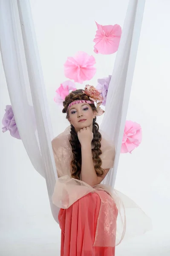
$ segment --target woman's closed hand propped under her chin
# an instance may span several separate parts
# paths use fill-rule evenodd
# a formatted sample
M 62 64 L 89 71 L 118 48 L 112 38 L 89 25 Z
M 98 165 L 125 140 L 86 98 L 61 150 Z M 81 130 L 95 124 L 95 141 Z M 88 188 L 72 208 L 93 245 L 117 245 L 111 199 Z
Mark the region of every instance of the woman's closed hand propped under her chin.
M 89 127 L 83 128 L 78 131 L 78 140 L 80 141 L 81 145 L 91 145 L 93 139 L 93 133 Z

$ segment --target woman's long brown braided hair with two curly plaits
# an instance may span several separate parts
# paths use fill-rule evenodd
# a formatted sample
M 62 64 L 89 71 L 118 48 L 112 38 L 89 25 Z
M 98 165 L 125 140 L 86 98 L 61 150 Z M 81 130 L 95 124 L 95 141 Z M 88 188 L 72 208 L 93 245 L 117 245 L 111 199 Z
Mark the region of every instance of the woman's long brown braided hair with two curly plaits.
M 87 96 L 85 93 L 82 92 L 83 89 L 75 90 L 69 93 L 68 96 L 66 96 L 64 102 L 63 102 L 63 113 L 67 113 L 66 119 L 69 118 L 69 112 L 67 112 L 67 108 L 69 104 L 75 100 L 89 100 L 89 96 Z M 92 108 L 92 111 L 96 111 L 96 107 L 94 104 L 90 104 L 90 107 Z M 96 117 L 93 119 L 93 139 L 92 139 L 92 159 L 94 163 L 95 172 L 98 176 L 101 176 L 104 174 L 104 169 L 101 168 L 101 158 L 100 155 L 102 154 L 101 151 L 101 133 L 99 132 L 99 125 L 96 121 Z M 71 131 L 70 131 L 70 140 L 69 143 L 72 146 L 72 154 L 73 158 L 71 161 L 71 168 L 72 168 L 72 177 L 75 179 L 80 180 L 80 174 L 81 174 L 81 144 L 78 140 L 77 132 L 75 131 L 75 128 L 73 125 L 71 125 Z

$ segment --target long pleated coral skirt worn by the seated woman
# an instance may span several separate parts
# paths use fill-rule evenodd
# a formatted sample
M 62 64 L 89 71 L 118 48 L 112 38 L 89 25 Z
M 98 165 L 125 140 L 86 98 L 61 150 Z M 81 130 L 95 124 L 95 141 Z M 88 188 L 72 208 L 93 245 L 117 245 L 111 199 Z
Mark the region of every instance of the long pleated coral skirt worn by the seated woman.
M 60 209 L 58 219 L 61 228 L 61 256 L 114 256 L 115 247 L 95 246 L 96 236 L 103 239 L 107 230 L 97 229 L 98 217 L 106 223 L 106 212 L 100 212 L 101 198 L 109 201 L 115 212 L 114 224 L 118 210 L 111 196 L 105 191 L 90 192 L 78 199 L 68 209 Z M 107 209 L 106 209 L 107 211 Z M 115 232 L 115 231 L 114 231 Z M 98 234 L 96 234 L 98 233 Z M 114 244 L 114 242 L 113 242 Z

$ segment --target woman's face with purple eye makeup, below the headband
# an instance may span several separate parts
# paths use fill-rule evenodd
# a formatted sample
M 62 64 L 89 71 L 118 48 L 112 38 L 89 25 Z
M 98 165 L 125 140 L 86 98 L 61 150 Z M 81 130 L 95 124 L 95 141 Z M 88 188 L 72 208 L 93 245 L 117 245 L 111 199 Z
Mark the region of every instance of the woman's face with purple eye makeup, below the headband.
M 77 132 L 84 127 L 89 127 L 92 131 L 92 122 L 94 118 L 95 113 L 93 113 L 92 108 L 87 103 L 77 103 L 69 108 L 68 120 Z

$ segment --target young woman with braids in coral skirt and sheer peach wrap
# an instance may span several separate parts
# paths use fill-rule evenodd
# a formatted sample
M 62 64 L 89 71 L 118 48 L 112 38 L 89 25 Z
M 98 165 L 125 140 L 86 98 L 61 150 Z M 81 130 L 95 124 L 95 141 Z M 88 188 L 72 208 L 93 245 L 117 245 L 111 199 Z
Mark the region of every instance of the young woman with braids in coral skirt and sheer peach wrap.
M 61 208 L 61 256 L 114 256 L 125 232 L 121 200 L 101 184 L 113 167 L 115 148 L 96 123 L 101 109 L 95 107 L 93 88 L 66 96 L 63 113 L 70 126 L 52 141 L 58 172 L 52 201 Z

